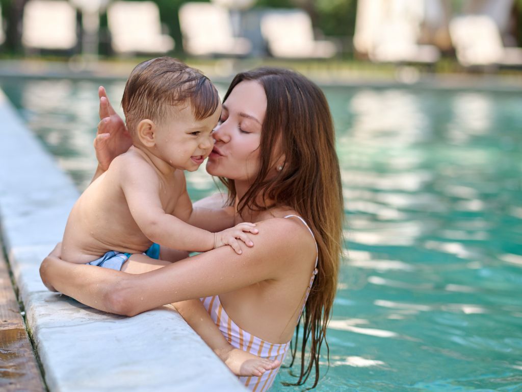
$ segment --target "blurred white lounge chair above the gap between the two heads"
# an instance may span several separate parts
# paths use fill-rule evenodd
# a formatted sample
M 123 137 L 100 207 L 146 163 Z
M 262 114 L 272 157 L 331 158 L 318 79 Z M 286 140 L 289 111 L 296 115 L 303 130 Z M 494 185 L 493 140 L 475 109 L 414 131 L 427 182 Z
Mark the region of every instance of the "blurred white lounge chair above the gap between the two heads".
M 183 49 L 194 56 L 250 53 L 246 38 L 234 37 L 229 11 L 210 3 L 185 3 L 179 10 Z

